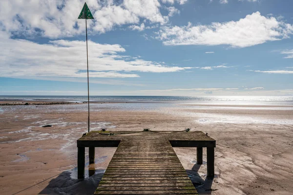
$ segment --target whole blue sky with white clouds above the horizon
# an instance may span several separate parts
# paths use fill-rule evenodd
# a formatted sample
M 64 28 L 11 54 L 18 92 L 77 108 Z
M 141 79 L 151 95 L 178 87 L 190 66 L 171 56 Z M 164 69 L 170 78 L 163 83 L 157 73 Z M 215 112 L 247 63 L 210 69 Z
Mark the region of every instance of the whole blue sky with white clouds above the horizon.
M 0 95 L 86 96 L 84 0 L 0 0 Z M 292 0 L 87 0 L 91 96 L 293 95 Z

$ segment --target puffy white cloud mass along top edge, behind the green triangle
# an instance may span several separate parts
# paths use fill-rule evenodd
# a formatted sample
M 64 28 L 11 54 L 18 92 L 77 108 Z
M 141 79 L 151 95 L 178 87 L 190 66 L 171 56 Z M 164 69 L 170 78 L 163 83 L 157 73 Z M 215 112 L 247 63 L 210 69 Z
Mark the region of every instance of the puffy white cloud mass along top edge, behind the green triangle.
M 77 20 L 83 5 L 84 0 L 0 0 L 0 30 L 53 39 L 79 35 L 85 31 L 85 21 Z M 138 24 L 140 20 L 157 24 L 168 21 L 168 16 L 160 12 L 158 0 L 87 0 L 87 5 L 95 18 L 88 20 L 88 31 L 92 34 L 124 24 Z M 169 15 L 178 12 L 176 8 L 170 10 Z

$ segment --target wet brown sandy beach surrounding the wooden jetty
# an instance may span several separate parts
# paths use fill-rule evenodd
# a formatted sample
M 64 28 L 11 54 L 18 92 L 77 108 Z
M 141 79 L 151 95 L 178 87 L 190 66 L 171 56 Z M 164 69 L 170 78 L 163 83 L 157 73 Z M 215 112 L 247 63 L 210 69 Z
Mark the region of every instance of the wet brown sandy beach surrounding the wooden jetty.
M 213 180 L 205 163 L 195 164 L 196 148 L 174 148 L 199 194 L 293 194 L 291 103 L 108 102 L 91 102 L 91 131 L 190 128 L 216 139 Z M 96 148 L 94 165 L 86 153 L 86 178 L 78 180 L 76 140 L 87 132 L 86 103 L 4 105 L 0 118 L 3 195 L 92 194 L 116 149 Z

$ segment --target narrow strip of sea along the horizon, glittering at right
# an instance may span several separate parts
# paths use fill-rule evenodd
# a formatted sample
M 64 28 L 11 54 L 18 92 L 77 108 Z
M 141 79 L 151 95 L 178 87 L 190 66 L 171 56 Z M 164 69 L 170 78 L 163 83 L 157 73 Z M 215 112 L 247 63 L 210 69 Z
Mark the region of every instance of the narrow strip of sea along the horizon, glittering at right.
M 293 96 L 90 96 L 90 102 L 201 102 L 293 105 Z M 0 100 L 87 101 L 87 96 L 0 96 Z

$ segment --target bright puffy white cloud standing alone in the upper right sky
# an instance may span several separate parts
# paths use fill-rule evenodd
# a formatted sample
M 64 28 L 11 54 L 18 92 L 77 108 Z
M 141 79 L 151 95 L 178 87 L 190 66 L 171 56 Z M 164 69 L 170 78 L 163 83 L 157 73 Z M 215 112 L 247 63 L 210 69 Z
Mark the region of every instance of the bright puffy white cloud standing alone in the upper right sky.
M 244 19 L 229 22 L 213 22 L 210 25 L 163 26 L 156 39 L 165 45 L 230 45 L 249 47 L 267 41 L 289 38 L 293 26 L 259 12 Z

